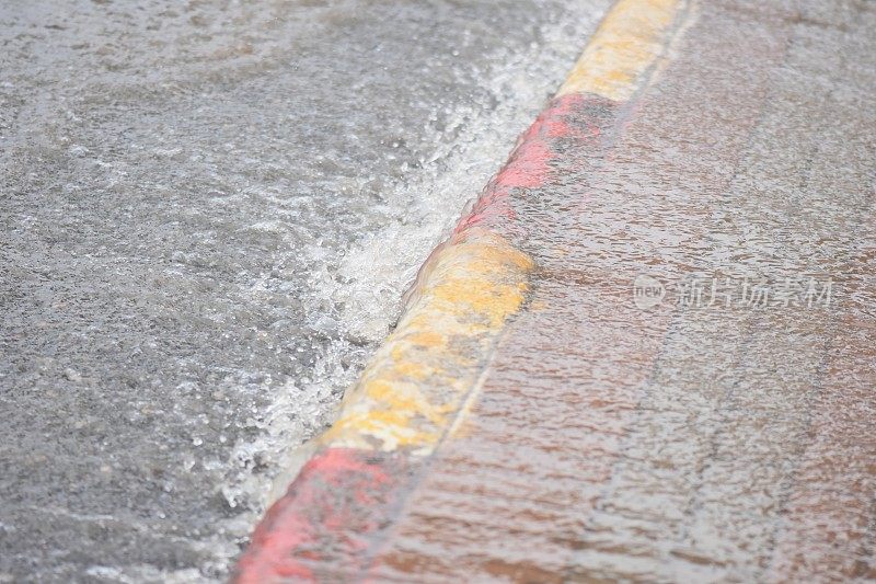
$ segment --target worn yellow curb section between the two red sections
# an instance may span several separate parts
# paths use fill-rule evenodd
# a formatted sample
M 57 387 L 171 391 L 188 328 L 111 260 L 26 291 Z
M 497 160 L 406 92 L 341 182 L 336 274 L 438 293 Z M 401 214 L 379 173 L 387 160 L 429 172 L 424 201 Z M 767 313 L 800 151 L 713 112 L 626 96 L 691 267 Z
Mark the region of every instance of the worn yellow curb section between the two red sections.
M 505 321 L 523 304 L 532 267 L 488 231 L 440 248 L 323 444 L 430 453 L 462 411 Z

